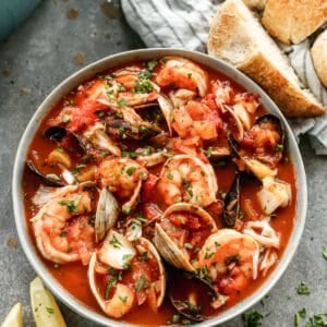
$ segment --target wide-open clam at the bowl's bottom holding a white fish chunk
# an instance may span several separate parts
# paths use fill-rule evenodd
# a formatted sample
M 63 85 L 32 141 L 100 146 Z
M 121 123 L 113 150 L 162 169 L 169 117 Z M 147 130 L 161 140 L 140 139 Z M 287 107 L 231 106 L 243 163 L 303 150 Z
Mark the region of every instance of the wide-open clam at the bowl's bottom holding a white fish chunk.
M 157 276 L 154 277 L 155 279 L 146 279 L 146 272 L 144 271 L 143 275 L 142 265 L 136 265 L 137 271 L 133 271 L 134 268 L 133 265 L 131 265 L 133 259 L 138 259 L 144 265 L 146 265 L 146 262 L 148 261 L 150 262 L 153 269 L 155 269 L 153 265 L 156 263 Z M 107 269 L 99 270 L 97 269 L 97 265 L 107 267 Z M 126 269 L 129 270 L 129 274 L 130 270 L 132 270 L 132 274 L 136 274 L 140 278 L 132 281 L 130 280 L 129 284 L 125 284 L 124 271 Z M 109 271 L 110 275 L 117 274 L 109 280 L 110 291 L 111 293 L 113 292 L 111 298 L 108 296 L 108 294 L 105 294 L 104 296 L 100 292 L 100 288 L 96 284 L 96 271 L 102 275 L 109 274 Z M 140 282 L 140 280 L 143 280 L 143 282 Z M 101 310 L 108 316 L 114 318 L 122 317 L 135 305 L 143 304 L 146 299 L 148 299 L 150 308 L 157 311 L 162 304 L 166 293 L 165 268 L 155 246 L 144 238 L 140 238 L 131 243 L 124 235 L 113 230 L 109 231 L 100 250 L 92 255 L 88 266 L 88 281 L 92 293 Z M 144 292 L 144 296 L 140 298 L 140 292 Z M 121 299 L 124 299 L 124 301 Z

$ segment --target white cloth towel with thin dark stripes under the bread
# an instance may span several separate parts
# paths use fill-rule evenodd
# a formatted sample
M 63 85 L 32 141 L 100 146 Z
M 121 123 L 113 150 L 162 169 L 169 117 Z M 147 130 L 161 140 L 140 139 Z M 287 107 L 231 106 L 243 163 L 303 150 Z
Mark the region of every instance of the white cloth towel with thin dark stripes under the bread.
M 185 48 L 206 52 L 209 22 L 221 0 L 121 0 L 131 27 L 147 47 Z M 327 106 L 327 89 L 319 82 L 310 55 L 311 40 L 288 47 L 291 65 L 302 82 Z M 289 119 L 294 134 L 308 133 L 317 155 L 327 155 L 327 113 L 312 119 Z

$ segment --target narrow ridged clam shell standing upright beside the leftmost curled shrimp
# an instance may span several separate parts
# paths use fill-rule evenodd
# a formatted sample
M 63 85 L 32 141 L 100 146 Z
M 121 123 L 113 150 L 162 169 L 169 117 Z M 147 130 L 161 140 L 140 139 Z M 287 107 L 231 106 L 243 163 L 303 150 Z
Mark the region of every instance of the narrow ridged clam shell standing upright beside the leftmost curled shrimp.
M 101 241 L 107 231 L 114 226 L 118 215 L 119 206 L 116 197 L 107 187 L 104 187 L 100 191 L 95 218 L 96 242 Z

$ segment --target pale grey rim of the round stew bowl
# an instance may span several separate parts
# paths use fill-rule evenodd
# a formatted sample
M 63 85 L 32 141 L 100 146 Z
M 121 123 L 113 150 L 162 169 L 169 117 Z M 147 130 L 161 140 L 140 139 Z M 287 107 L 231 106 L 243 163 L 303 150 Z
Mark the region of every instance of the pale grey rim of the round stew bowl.
M 199 64 L 204 64 L 208 68 L 211 68 L 223 75 L 228 76 L 232 81 L 235 81 L 246 90 L 250 90 L 255 94 L 259 94 L 261 102 L 267 109 L 268 112 L 274 113 L 279 117 L 282 121 L 286 134 L 287 134 L 287 144 L 291 154 L 291 159 L 294 165 L 295 170 L 295 185 L 296 185 L 296 206 L 295 206 L 295 218 L 294 226 L 289 242 L 283 251 L 283 254 L 280 258 L 280 262 L 269 277 L 261 284 L 261 287 L 253 292 L 251 295 L 237 303 L 232 307 L 226 310 L 218 316 L 215 316 L 208 320 L 196 324 L 196 326 L 217 326 L 222 323 L 226 323 L 235 316 L 242 314 L 255 303 L 257 303 L 265 294 L 267 294 L 271 288 L 277 283 L 282 274 L 286 271 L 289 266 L 295 250 L 300 243 L 302 237 L 305 217 L 307 210 L 307 187 L 306 187 L 306 177 L 300 149 L 298 147 L 295 136 L 291 131 L 286 118 L 282 116 L 280 110 L 277 108 L 275 102 L 268 97 L 268 95 L 252 80 L 245 76 L 242 72 L 238 71 L 230 64 L 214 58 L 211 56 L 190 51 L 185 49 L 178 48 L 146 48 L 137 49 L 131 51 L 119 52 L 105 57 L 100 60 L 97 60 L 85 68 L 78 70 L 77 72 L 71 74 L 64 81 L 62 81 L 39 105 L 33 117 L 31 118 L 17 147 L 15 161 L 13 166 L 13 178 L 12 178 L 12 199 L 13 199 L 13 213 L 15 219 L 15 226 L 19 234 L 19 239 L 23 251 L 33 266 L 34 270 L 40 278 L 44 280 L 46 286 L 50 291 L 66 306 L 72 311 L 80 314 L 81 316 L 95 322 L 100 325 L 106 326 L 125 326 L 124 322 L 113 320 L 105 315 L 101 315 L 95 312 L 92 307 L 88 307 L 83 302 L 75 299 L 48 272 L 45 265 L 37 254 L 27 230 L 25 211 L 24 211 L 24 202 L 23 202 L 23 192 L 22 192 L 22 175 L 24 169 L 24 162 L 27 155 L 28 147 L 31 145 L 32 138 L 35 135 L 37 128 L 39 126 L 40 121 L 47 112 L 51 110 L 53 105 L 56 105 L 64 94 L 68 94 L 70 90 L 75 88 L 78 84 L 85 82 L 87 78 L 90 78 L 96 73 L 100 73 L 106 69 L 114 68 L 123 63 L 128 63 L 134 60 L 150 60 L 154 58 L 161 58 L 165 56 L 179 56 L 184 57 Z M 24 219 L 22 219 L 24 217 Z

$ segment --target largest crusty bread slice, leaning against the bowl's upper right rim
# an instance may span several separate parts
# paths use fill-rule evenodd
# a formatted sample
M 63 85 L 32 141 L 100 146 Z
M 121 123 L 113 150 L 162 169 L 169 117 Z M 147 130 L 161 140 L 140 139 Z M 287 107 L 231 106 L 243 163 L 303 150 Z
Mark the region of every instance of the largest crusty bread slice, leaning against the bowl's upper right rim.
M 227 0 L 215 14 L 208 52 L 259 84 L 288 117 L 314 117 L 323 105 L 304 89 L 288 59 L 241 0 Z

